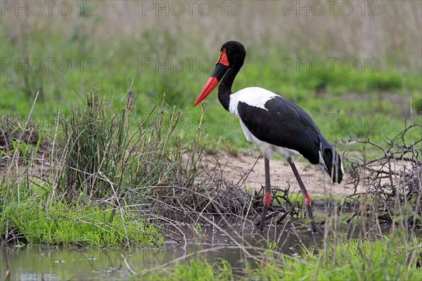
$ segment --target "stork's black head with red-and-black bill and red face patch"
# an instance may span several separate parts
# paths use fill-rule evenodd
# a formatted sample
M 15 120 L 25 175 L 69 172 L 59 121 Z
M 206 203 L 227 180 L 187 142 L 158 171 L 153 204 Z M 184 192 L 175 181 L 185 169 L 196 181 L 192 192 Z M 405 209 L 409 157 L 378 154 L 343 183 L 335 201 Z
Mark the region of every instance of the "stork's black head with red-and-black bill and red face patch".
M 243 44 L 238 41 L 227 41 L 224 43 L 220 49 L 220 56 L 215 64 L 215 69 L 193 106 L 198 105 L 198 103 L 203 101 L 212 92 L 229 68 L 233 68 L 237 73 L 241 69 L 245 57 L 246 51 Z

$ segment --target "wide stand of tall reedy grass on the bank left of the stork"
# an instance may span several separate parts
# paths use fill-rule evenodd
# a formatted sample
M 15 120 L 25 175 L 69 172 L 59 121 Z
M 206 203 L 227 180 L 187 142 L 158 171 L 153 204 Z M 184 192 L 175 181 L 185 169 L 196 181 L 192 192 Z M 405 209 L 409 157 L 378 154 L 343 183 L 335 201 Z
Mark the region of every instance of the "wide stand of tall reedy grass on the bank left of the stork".
M 121 112 L 111 112 L 94 90 L 84 105 L 72 107 L 63 119 L 66 168 L 61 190 L 73 197 L 80 192 L 95 198 L 124 193 L 139 202 L 143 197 L 138 192 L 132 197 L 128 190 L 143 188 L 141 195 L 146 195 L 146 186 L 193 183 L 202 149 L 175 133 L 182 113 L 162 103 L 159 112 L 154 107 L 141 115 L 134 133 L 132 115 L 131 91 Z

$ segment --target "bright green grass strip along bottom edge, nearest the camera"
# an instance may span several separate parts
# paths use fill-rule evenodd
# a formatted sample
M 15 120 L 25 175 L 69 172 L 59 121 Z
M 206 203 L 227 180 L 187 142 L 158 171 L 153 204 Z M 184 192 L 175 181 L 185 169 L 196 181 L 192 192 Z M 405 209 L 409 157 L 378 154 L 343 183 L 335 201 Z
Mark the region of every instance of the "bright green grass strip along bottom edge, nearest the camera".
M 421 243 L 421 238 L 398 232 L 383 240 L 342 240 L 326 249 L 303 250 L 297 256 L 281 254 L 270 243 L 265 258 L 244 261 L 236 280 L 419 280 Z M 149 276 L 151 280 L 234 280 L 229 263 L 199 258 L 148 271 Z

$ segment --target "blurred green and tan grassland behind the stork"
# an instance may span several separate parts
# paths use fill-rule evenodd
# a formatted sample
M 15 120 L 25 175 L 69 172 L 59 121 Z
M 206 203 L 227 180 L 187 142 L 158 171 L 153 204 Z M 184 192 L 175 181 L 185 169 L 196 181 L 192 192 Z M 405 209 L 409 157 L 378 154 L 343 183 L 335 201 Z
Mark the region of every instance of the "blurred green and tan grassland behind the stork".
M 219 48 L 238 40 L 248 55 L 234 91 L 261 86 L 293 100 L 333 143 L 383 141 L 421 123 L 421 1 L 54 1 L 51 15 L 7 2 L 1 115 L 25 118 L 39 91 L 34 120 L 48 128 L 91 89 L 113 108 L 131 89 L 137 122 L 165 96 L 190 134 Z M 208 139 L 247 148 L 216 93 L 207 100 Z

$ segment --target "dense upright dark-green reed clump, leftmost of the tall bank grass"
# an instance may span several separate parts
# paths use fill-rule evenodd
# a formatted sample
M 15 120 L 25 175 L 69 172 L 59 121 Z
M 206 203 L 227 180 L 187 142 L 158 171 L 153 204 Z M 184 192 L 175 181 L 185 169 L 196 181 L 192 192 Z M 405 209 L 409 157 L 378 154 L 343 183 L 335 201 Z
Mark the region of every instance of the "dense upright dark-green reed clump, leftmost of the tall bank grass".
M 80 190 L 97 198 L 113 192 L 110 183 L 99 180 L 96 174 L 101 172 L 113 182 L 120 176 L 116 164 L 124 157 L 124 121 L 105 112 L 98 91 L 91 91 L 81 107 L 72 107 L 70 116 L 63 119 L 66 148 L 65 181 L 60 182 L 63 190 L 76 194 Z

